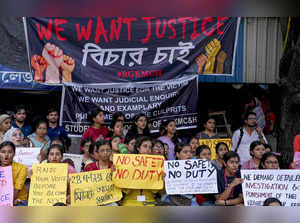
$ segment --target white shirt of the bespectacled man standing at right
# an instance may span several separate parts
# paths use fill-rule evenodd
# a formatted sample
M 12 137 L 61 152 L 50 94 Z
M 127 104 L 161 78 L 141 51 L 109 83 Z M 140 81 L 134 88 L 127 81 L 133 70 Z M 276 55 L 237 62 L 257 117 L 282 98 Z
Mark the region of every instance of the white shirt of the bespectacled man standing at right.
M 241 159 L 241 161 L 240 161 L 241 164 L 243 164 L 244 162 L 246 162 L 252 158 L 250 155 L 250 144 L 253 141 L 260 141 L 256 130 L 254 130 L 251 133 L 251 135 L 248 134 L 248 132 L 245 130 L 245 128 L 243 128 L 243 132 L 244 132 L 244 135 L 242 137 L 242 141 L 241 141 L 240 146 L 237 151 L 237 153 L 239 154 L 240 159 Z M 232 151 L 235 151 L 235 148 L 240 139 L 240 135 L 241 135 L 240 129 L 237 129 L 234 131 L 233 136 L 232 136 Z M 262 133 L 262 136 L 265 140 L 265 143 L 268 143 L 263 133 Z

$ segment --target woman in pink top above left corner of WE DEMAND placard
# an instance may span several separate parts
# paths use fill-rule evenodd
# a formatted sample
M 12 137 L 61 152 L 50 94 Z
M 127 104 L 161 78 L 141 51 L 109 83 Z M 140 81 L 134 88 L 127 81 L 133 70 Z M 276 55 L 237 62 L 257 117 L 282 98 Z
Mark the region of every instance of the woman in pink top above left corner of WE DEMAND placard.
M 252 159 L 246 161 L 242 165 L 244 170 L 257 170 L 259 167 L 260 160 L 265 154 L 266 149 L 261 141 L 254 141 L 250 144 L 250 155 Z

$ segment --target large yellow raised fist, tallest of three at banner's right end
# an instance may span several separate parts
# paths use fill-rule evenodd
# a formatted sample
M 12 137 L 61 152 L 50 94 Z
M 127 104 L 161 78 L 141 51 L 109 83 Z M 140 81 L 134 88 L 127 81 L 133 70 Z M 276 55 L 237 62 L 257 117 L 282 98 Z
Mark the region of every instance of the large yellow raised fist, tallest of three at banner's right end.
M 215 61 L 216 61 L 216 55 L 218 54 L 220 49 L 221 49 L 221 42 L 217 39 L 213 39 L 206 45 L 205 51 L 207 56 L 207 62 L 204 68 L 205 74 L 213 73 Z

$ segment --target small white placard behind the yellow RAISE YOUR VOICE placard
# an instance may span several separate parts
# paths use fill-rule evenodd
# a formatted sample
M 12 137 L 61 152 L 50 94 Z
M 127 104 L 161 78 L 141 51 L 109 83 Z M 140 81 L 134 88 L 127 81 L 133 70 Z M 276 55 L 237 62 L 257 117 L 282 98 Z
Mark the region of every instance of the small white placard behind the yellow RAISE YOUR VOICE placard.
M 28 170 L 31 170 L 33 164 L 38 164 L 38 155 L 41 147 L 16 147 L 14 162 L 24 164 Z

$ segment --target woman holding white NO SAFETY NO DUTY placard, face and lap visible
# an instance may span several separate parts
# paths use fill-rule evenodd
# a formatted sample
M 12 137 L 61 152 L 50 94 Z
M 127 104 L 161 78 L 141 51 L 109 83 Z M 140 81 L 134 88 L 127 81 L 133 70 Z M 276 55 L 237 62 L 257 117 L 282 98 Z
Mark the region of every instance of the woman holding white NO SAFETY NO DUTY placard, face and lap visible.
M 178 143 L 175 146 L 176 160 L 188 160 L 192 158 L 192 149 L 189 144 Z M 198 206 L 196 196 L 193 194 L 163 195 L 162 201 L 174 206 Z

